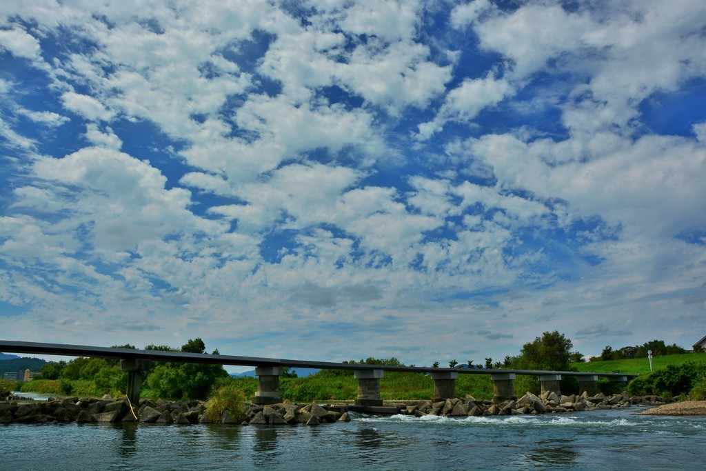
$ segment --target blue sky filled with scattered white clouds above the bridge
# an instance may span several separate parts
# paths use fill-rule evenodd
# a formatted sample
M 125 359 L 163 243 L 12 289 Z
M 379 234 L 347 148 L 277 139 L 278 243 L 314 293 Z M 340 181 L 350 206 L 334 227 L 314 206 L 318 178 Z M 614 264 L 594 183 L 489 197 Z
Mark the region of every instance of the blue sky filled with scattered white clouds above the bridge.
M 4 1 L 0 338 L 688 348 L 705 51 L 702 0 Z

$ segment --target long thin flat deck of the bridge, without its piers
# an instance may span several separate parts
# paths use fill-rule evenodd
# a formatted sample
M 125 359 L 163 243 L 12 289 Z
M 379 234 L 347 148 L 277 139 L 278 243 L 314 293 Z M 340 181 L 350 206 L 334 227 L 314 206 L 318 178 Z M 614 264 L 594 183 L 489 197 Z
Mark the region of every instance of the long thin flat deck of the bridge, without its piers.
M 469 368 L 432 368 L 431 366 L 388 366 L 354 363 L 316 362 L 293 359 L 237 357 L 233 355 L 213 355 L 185 352 L 163 352 L 161 350 L 133 350 L 130 348 L 91 347 L 88 345 L 65 345 L 59 343 L 18 342 L 14 340 L 0 340 L 0 352 L 31 353 L 59 355 L 66 357 L 96 357 L 109 359 L 148 359 L 155 362 L 184 362 L 201 364 L 227 364 L 233 366 L 290 366 L 298 368 L 315 369 L 344 369 L 344 370 L 373 370 L 402 371 L 408 373 L 439 373 L 442 371 L 455 371 L 459 374 L 508 374 L 518 375 L 546 375 L 561 374 L 566 376 L 603 376 L 633 378 L 637 375 L 621 373 L 592 373 L 581 371 L 543 371 L 525 369 L 469 369 Z

